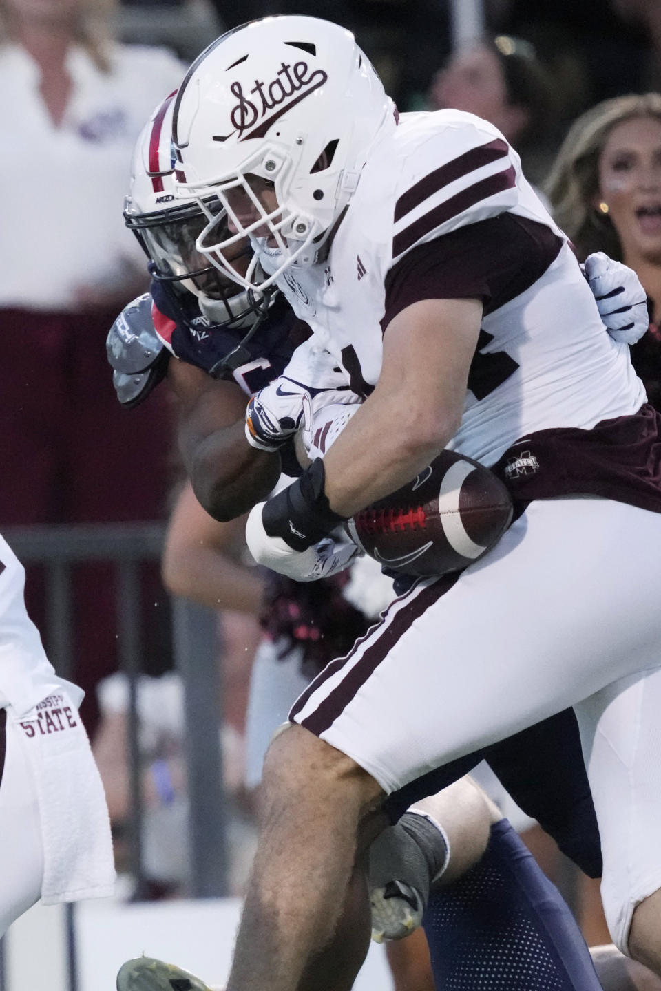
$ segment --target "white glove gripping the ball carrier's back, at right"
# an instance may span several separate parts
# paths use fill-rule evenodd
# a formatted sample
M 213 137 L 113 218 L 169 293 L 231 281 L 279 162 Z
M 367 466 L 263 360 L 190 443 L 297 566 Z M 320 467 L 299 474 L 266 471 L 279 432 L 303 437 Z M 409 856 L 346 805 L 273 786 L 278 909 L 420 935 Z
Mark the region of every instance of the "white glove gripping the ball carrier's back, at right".
M 638 276 L 602 251 L 588 256 L 584 271 L 609 336 L 618 344 L 635 344 L 649 326 L 647 297 Z

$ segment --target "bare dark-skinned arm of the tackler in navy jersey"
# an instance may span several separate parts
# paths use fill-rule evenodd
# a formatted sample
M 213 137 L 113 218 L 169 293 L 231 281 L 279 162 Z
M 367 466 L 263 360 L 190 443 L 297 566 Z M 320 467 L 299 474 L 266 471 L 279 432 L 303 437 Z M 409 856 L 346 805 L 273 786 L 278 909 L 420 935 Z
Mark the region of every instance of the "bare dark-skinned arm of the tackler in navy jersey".
M 235 519 L 272 491 L 279 458 L 247 442 L 247 399 L 238 385 L 177 360 L 167 379 L 179 401 L 179 449 L 193 492 L 214 519 Z

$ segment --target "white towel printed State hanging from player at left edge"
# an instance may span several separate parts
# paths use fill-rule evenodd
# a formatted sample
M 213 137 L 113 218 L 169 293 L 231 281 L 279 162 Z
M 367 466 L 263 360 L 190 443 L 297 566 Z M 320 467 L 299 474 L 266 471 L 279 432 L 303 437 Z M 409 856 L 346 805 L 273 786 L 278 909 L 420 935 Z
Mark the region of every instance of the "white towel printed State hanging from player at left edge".
M 113 894 L 110 820 L 80 716 L 64 694 L 49 696 L 17 723 L 35 775 L 44 844 L 42 902 Z

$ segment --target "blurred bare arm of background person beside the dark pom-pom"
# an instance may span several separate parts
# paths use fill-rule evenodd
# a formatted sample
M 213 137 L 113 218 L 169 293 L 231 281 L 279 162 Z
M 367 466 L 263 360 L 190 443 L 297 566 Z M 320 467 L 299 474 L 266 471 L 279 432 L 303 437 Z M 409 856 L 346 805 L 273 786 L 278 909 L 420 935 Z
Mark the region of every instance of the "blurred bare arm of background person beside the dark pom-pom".
M 228 523 L 212 519 L 186 483 L 169 517 L 161 570 L 168 592 L 212 609 L 258 615 L 264 579 L 241 562 L 243 516 Z

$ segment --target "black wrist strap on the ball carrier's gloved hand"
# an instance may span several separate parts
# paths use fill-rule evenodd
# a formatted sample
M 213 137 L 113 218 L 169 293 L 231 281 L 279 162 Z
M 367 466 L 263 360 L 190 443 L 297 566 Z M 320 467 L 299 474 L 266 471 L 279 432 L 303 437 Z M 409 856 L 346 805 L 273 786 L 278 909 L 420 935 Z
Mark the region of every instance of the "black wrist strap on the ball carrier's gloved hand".
M 325 481 L 324 463 L 316 458 L 299 479 L 270 498 L 262 512 L 268 535 L 281 537 L 295 551 L 304 551 L 343 522 L 345 517 L 328 504 Z

